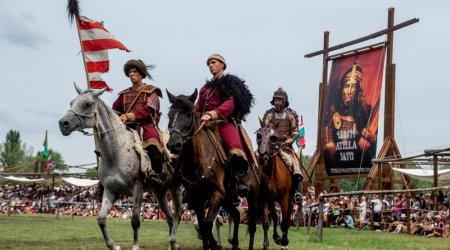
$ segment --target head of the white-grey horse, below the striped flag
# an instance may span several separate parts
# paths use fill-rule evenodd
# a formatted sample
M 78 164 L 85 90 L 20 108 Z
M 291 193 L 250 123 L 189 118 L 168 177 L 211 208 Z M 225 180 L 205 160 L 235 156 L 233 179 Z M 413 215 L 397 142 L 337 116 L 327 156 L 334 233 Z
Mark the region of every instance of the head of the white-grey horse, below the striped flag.
M 65 136 L 73 131 L 81 131 L 95 126 L 95 114 L 98 108 L 98 97 L 106 88 L 99 90 L 82 90 L 75 83 L 78 96 L 70 102 L 70 109 L 59 120 L 59 129 Z

